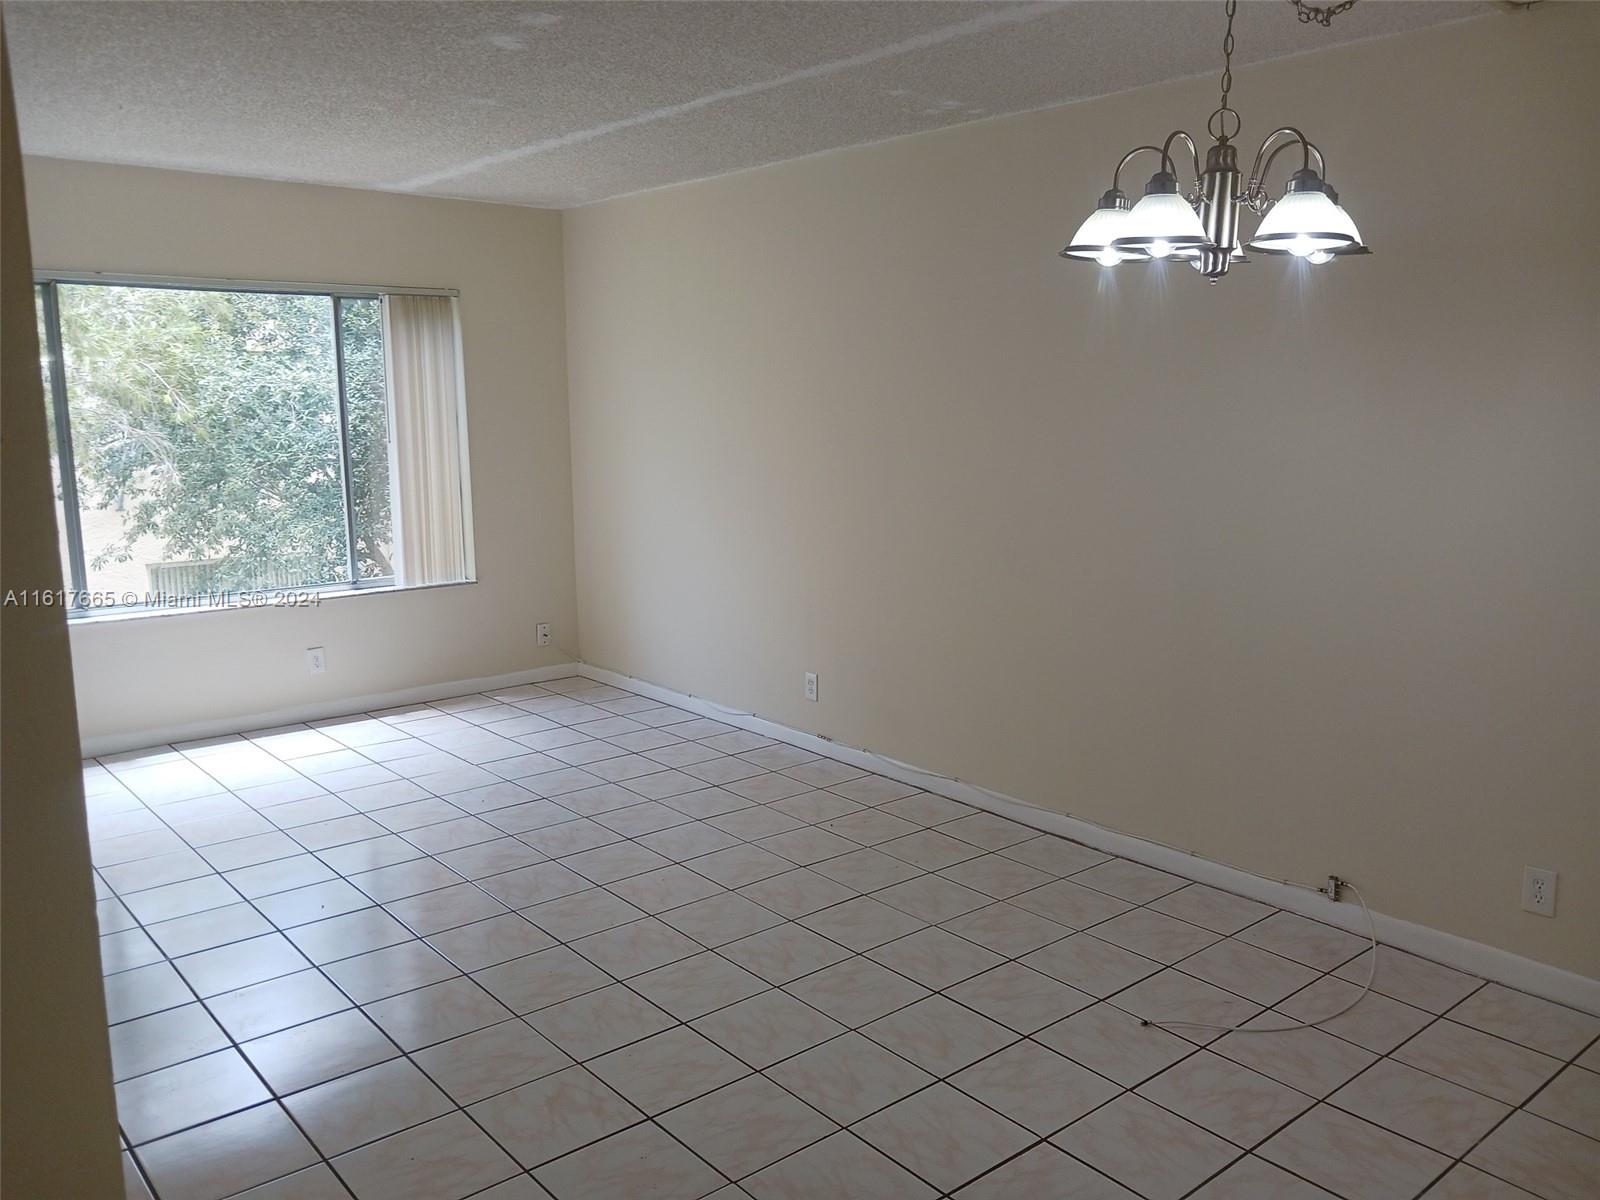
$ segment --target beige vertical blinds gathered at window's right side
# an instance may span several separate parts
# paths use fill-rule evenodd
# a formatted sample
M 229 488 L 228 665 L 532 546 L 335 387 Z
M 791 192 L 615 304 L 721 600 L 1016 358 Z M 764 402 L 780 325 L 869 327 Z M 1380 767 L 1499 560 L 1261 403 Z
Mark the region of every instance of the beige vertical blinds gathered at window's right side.
M 461 350 L 450 296 L 384 296 L 395 582 L 470 578 Z

